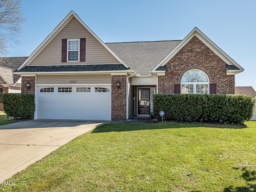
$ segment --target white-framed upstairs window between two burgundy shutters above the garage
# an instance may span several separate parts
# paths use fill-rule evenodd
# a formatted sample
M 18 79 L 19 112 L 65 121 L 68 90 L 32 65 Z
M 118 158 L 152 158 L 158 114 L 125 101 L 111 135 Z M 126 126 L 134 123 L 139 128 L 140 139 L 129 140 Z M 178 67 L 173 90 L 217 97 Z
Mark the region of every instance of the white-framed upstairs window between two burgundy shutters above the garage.
M 68 40 L 68 61 L 79 61 L 79 40 Z

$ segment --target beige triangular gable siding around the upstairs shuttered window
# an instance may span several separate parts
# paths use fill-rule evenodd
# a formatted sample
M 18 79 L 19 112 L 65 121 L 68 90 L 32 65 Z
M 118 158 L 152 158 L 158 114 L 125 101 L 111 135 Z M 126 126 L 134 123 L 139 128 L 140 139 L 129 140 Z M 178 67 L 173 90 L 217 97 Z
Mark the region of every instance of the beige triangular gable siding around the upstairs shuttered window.
M 86 62 L 61 62 L 62 39 L 86 38 Z M 55 38 L 29 64 L 40 65 L 77 65 L 77 64 L 119 64 L 118 60 L 106 50 L 76 18 L 55 36 Z

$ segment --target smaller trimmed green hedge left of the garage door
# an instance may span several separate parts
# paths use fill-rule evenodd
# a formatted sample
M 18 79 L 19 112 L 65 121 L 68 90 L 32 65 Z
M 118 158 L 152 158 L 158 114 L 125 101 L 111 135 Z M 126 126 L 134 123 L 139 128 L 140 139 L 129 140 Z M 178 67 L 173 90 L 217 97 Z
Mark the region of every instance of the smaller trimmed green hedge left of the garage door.
M 2 104 L 8 116 L 30 118 L 35 111 L 35 96 L 33 94 L 3 93 Z

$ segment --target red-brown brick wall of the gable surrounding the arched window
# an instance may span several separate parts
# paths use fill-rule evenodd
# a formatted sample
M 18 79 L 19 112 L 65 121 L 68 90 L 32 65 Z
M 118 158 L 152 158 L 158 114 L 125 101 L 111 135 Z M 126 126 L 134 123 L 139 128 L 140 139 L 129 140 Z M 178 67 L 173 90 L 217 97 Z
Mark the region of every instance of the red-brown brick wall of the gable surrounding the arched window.
M 216 94 L 235 93 L 235 76 L 227 75 L 226 63 L 196 36 L 166 63 L 165 75 L 158 76 L 158 93 L 174 93 L 174 84 L 191 69 L 205 72 L 216 84 Z

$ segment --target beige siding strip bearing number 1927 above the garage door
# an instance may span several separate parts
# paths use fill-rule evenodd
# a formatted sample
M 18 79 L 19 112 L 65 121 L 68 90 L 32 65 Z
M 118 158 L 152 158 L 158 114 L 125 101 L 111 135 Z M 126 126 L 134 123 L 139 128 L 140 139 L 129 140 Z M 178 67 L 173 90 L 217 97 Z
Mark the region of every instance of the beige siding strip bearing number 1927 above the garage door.
M 111 84 L 111 75 L 37 75 L 36 84 Z

